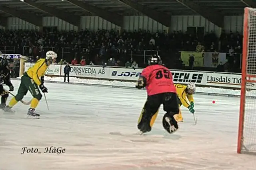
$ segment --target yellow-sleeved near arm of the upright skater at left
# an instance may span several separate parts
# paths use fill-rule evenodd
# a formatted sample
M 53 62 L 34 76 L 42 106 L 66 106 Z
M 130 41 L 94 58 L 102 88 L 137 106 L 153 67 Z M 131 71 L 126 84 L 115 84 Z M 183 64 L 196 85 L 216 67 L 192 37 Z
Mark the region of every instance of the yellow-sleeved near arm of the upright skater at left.
M 36 68 L 35 68 L 35 72 L 34 72 L 34 75 L 33 75 L 33 80 L 34 82 L 40 86 L 42 84 L 42 81 L 41 81 L 41 76 L 44 76 L 44 73 L 46 72 L 47 70 L 47 65 L 46 65 L 46 62 L 45 60 L 41 60 L 39 61 L 37 64 L 34 65 Z

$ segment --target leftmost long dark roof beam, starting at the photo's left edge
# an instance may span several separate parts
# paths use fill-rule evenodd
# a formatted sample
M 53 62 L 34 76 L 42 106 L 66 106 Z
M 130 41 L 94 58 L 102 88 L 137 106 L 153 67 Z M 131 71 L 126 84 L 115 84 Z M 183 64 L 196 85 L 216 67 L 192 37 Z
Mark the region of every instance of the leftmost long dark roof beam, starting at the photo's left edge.
M 42 17 L 30 14 L 28 12 L 19 11 L 16 9 L 8 8 L 6 6 L 0 6 L 0 11 L 6 14 L 10 14 L 11 16 L 14 16 L 16 18 L 20 18 L 39 27 L 42 27 L 43 25 Z

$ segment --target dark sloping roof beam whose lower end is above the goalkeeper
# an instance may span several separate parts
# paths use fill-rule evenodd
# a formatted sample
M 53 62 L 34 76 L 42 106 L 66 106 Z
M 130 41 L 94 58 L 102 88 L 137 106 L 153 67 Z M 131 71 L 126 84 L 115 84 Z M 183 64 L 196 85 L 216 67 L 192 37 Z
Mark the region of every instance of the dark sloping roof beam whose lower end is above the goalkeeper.
M 142 14 L 152 18 L 155 21 L 158 21 L 159 23 L 162 23 L 163 25 L 170 27 L 171 23 L 171 15 L 164 14 L 163 12 L 158 12 L 156 10 L 153 10 L 152 8 L 148 8 L 145 5 L 133 2 L 131 0 L 119 0 L 126 6 L 129 6 L 130 8 L 133 8 L 136 11 L 141 12 Z

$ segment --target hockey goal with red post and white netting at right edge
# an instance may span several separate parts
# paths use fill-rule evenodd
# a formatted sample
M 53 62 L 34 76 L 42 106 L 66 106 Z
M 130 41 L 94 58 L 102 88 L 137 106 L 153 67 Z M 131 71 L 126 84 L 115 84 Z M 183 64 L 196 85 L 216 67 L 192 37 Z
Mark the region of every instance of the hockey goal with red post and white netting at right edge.
M 256 153 L 256 9 L 244 9 L 238 153 Z

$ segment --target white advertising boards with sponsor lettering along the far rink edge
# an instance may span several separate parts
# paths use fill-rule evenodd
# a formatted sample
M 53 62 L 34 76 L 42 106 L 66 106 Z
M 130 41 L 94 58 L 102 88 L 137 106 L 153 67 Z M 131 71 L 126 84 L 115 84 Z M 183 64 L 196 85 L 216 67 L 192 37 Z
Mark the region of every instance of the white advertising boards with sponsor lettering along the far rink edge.
M 25 71 L 34 63 L 25 63 Z M 96 78 L 100 80 L 119 80 L 119 81 L 136 81 L 140 76 L 143 68 L 124 68 L 124 67 L 102 67 L 102 66 L 71 66 L 70 76 L 78 78 Z M 50 65 L 46 71 L 48 76 L 64 76 L 65 65 Z M 240 88 L 241 74 L 220 73 L 220 72 L 202 72 L 189 70 L 171 70 L 174 83 L 187 84 L 194 82 L 200 86 L 206 87 L 223 87 L 223 88 Z M 248 83 L 248 89 L 256 90 L 255 83 Z

